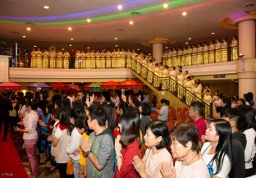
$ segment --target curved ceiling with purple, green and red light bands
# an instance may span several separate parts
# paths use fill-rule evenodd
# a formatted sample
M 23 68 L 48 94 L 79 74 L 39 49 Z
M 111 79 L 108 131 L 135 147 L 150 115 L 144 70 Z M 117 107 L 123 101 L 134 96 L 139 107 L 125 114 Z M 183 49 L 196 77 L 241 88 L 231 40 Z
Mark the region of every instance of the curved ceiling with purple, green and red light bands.
M 163 3 L 168 7 L 163 8 Z M 189 43 L 198 43 L 236 35 L 237 30 L 224 29 L 220 22 L 227 16 L 255 9 L 256 6 L 245 7 L 254 3 L 254 0 L 1 0 L 0 45 L 18 42 L 25 48 L 34 45 L 114 48 L 118 44 L 118 47 L 143 48 L 140 42 L 162 37 L 176 40 L 172 46 L 185 46 L 189 37 Z M 117 9 L 119 4 L 123 7 L 121 11 Z M 44 5 L 49 9 L 43 9 Z M 181 15 L 183 11 L 187 16 Z M 90 23 L 86 21 L 88 18 Z

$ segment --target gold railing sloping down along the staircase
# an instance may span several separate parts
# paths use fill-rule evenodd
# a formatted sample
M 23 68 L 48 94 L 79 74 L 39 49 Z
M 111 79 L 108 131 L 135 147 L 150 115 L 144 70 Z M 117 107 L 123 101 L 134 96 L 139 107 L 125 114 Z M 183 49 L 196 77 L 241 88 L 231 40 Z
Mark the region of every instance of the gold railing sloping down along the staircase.
M 176 80 L 171 79 L 171 77 L 162 77 L 154 74 L 152 71 L 144 66 L 143 64 L 137 62 L 134 58 L 131 59 L 130 70 L 133 75 L 135 75 L 139 80 L 143 81 L 149 89 L 160 95 L 159 93 L 164 91 L 167 95 L 171 95 L 173 98 L 180 100 L 185 106 L 190 107 L 190 103 L 194 101 L 199 101 L 204 104 L 204 115 L 208 118 L 211 113 L 211 107 L 207 103 L 203 102 L 202 98 L 198 98 L 184 86 L 178 84 Z

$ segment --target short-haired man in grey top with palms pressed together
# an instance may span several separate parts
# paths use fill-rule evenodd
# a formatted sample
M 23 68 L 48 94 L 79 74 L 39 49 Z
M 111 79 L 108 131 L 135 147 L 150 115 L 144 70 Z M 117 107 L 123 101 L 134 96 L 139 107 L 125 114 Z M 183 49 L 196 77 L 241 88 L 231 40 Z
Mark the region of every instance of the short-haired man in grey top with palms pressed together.
M 112 178 L 114 176 L 114 139 L 106 128 L 107 114 L 103 107 L 92 105 L 86 114 L 90 130 L 89 141 L 80 140 L 87 157 L 87 177 Z

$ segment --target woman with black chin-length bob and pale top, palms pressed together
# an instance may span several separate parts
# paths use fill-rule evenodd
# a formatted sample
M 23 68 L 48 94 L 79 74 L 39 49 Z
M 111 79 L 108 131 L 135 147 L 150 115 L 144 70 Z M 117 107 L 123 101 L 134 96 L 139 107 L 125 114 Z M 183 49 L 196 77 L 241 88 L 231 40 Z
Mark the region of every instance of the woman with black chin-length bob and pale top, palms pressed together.
M 167 150 L 170 142 L 167 125 L 162 121 L 152 121 L 146 127 L 144 144 L 147 147 L 146 153 L 141 160 L 134 157 L 133 165 L 142 178 L 162 178 L 160 165 L 166 162 L 168 167 L 173 167 L 171 154 Z

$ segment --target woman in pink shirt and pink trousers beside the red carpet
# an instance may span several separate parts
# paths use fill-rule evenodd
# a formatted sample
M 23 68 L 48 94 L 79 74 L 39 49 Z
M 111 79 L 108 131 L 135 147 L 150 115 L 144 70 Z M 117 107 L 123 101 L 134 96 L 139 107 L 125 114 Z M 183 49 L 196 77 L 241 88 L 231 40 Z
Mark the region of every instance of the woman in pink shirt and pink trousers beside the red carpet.
M 38 177 L 38 161 L 36 156 L 36 144 L 38 142 L 38 134 L 36 127 L 38 125 L 39 116 L 34 110 L 37 109 L 37 103 L 28 102 L 26 105 L 25 117 L 23 119 L 24 129 L 16 127 L 16 131 L 23 132 L 23 139 L 25 142 L 25 151 L 29 157 L 30 170 L 33 178 Z

